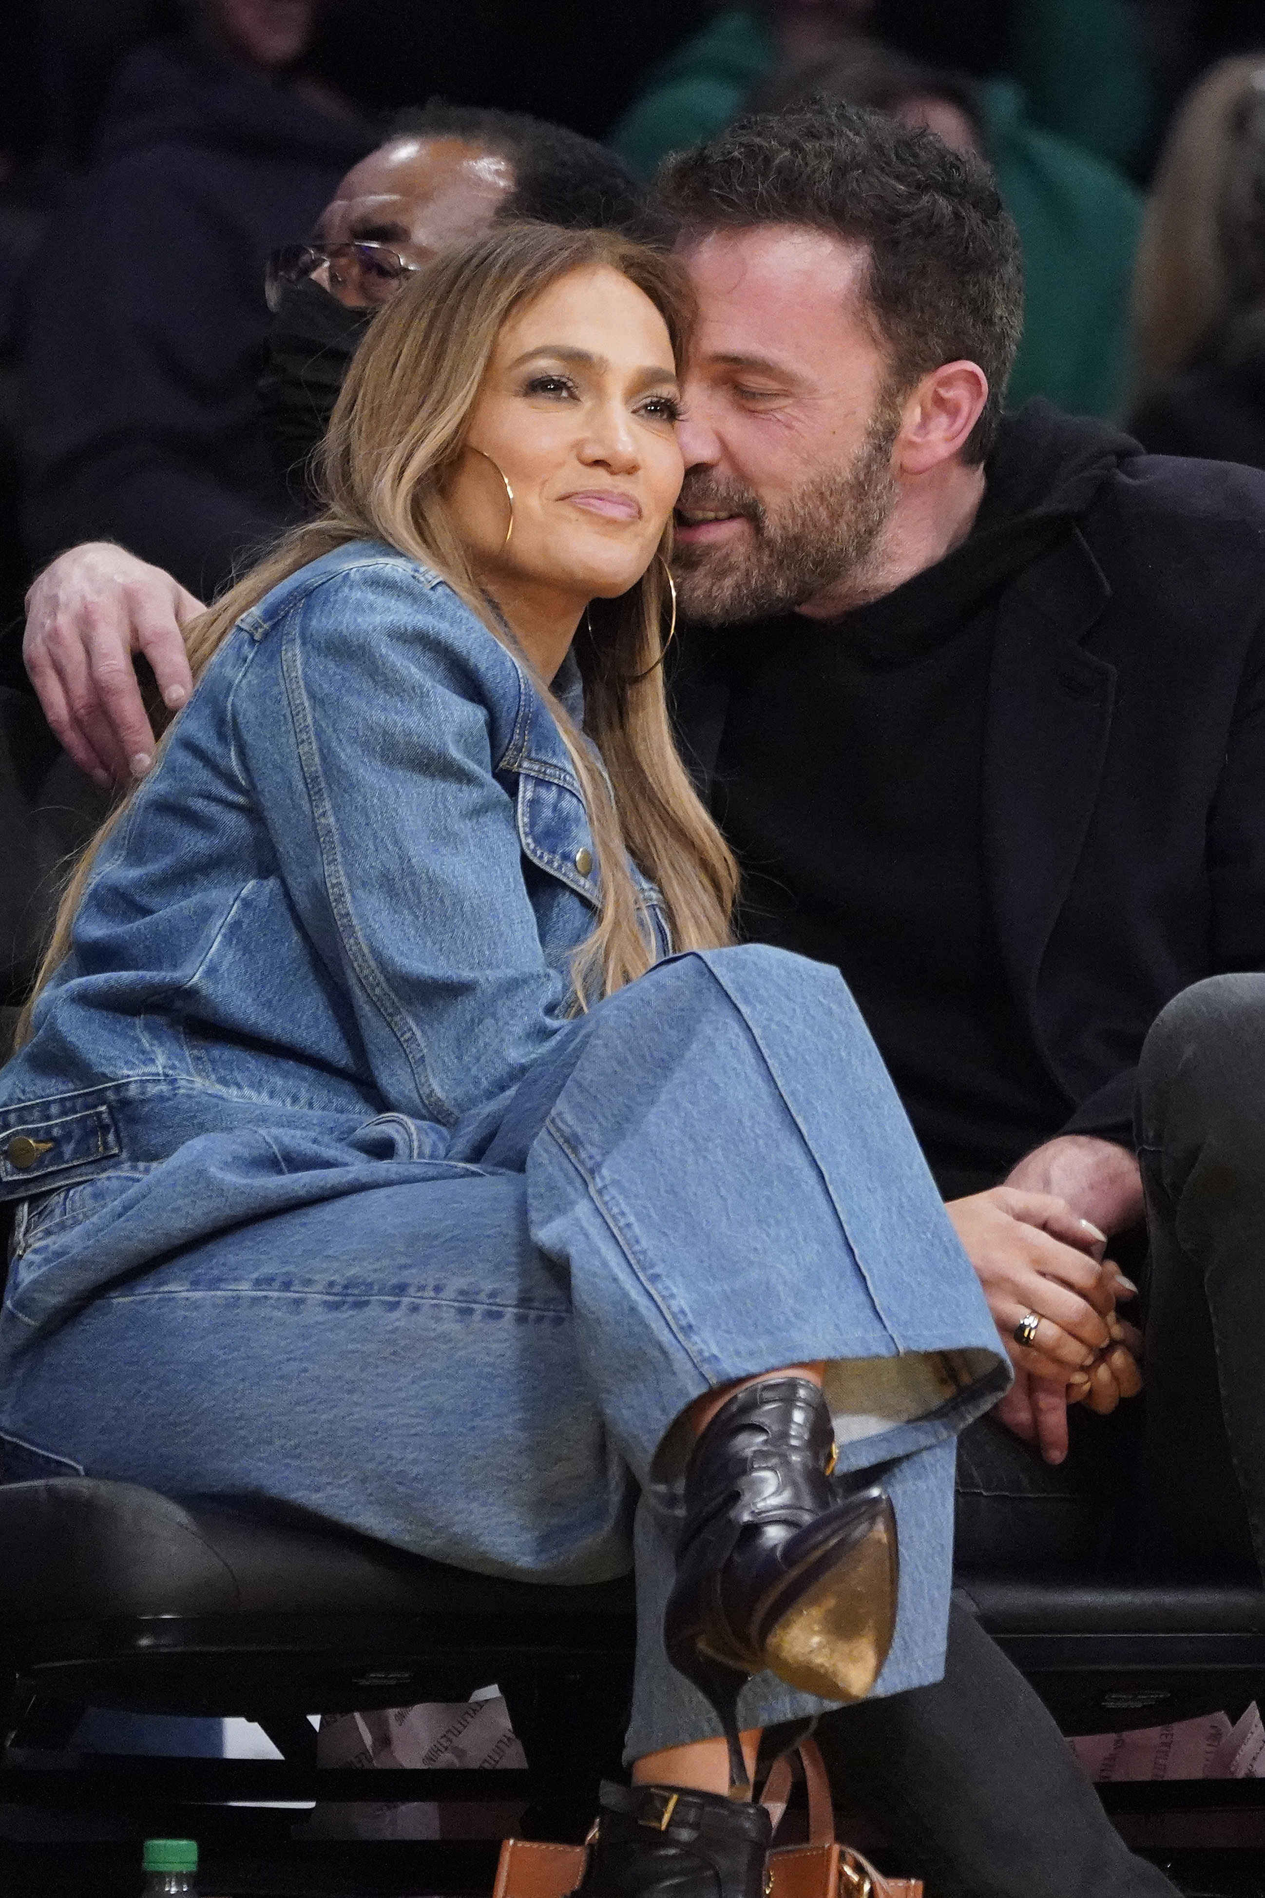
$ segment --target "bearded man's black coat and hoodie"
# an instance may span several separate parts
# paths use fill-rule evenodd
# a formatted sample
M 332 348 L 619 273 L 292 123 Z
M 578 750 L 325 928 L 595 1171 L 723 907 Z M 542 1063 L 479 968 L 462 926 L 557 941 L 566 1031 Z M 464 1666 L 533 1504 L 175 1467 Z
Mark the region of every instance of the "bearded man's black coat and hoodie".
M 677 689 L 745 934 L 842 970 L 946 1198 L 1128 1144 L 1164 1002 L 1265 968 L 1265 478 L 1047 402 L 986 474 L 946 560 Z

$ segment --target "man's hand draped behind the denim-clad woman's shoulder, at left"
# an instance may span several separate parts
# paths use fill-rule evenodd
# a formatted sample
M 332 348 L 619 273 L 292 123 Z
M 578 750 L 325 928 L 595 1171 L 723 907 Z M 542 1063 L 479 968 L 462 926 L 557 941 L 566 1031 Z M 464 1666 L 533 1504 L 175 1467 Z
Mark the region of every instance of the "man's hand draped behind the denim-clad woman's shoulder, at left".
M 108 541 L 72 547 L 34 581 L 27 672 L 49 725 L 97 784 L 142 776 L 154 763 L 133 653 L 144 653 L 163 704 L 176 710 L 193 691 L 182 626 L 201 611 L 171 573 Z

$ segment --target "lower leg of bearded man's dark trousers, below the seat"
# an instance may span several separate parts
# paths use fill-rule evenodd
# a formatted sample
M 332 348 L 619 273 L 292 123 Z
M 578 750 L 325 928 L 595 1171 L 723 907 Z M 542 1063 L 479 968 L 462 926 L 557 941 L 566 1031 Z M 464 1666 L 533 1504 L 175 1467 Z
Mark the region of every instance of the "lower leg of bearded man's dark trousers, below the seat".
M 838 1805 L 935 1898 L 1176 1898 L 1134 1858 L 1028 1682 L 954 1606 L 944 1680 L 827 1714 Z

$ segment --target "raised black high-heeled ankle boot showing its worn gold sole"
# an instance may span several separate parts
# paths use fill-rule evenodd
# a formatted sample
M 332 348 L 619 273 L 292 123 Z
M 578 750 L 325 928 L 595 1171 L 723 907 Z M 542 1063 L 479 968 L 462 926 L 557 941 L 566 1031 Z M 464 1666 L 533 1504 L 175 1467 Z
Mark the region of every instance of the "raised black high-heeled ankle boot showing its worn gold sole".
M 806 1378 L 747 1384 L 690 1452 L 664 1642 L 724 1727 L 734 1790 L 747 1784 L 738 1695 L 751 1674 L 861 1701 L 891 1647 L 891 1503 L 865 1479 L 831 1480 L 833 1467 L 831 1412 Z

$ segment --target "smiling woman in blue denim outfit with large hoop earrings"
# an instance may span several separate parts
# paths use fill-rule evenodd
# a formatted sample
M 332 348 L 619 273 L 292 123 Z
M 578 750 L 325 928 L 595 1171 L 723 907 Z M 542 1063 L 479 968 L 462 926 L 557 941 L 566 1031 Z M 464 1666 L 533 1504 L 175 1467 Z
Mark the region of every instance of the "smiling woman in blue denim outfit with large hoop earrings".
M 836 972 L 726 947 L 662 683 L 688 321 L 544 226 L 374 321 L 0 1076 L 0 1456 L 633 1566 L 588 1889 L 757 1898 L 759 1729 L 937 1678 L 1009 1370 Z

